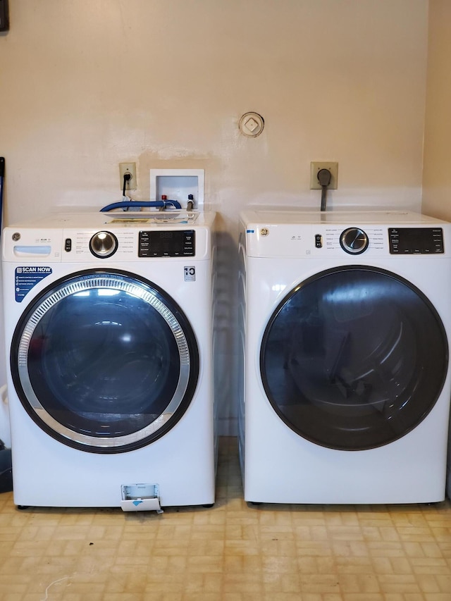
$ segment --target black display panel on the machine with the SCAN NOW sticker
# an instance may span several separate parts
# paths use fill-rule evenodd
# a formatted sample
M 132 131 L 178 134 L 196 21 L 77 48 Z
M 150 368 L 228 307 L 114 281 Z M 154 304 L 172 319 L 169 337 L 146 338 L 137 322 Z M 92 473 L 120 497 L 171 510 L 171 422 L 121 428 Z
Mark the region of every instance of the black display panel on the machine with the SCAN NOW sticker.
M 139 236 L 138 256 L 194 256 L 194 230 L 142 230 Z

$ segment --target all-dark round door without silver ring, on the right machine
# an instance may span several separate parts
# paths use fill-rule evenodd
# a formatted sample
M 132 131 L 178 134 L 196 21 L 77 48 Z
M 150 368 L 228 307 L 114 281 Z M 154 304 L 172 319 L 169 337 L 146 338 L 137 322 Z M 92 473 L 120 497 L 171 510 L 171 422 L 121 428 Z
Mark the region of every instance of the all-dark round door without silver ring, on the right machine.
M 323 271 L 288 294 L 261 343 L 271 405 L 318 445 L 387 445 L 431 411 L 447 374 L 445 328 L 431 302 L 389 271 Z

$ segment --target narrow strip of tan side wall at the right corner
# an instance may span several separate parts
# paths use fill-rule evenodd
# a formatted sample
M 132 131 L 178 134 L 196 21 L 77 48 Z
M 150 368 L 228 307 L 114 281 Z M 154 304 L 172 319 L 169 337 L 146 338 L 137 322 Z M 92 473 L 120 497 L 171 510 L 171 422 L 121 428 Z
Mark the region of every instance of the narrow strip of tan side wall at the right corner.
M 429 1 L 423 211 L 451 221 L 451 2 Z

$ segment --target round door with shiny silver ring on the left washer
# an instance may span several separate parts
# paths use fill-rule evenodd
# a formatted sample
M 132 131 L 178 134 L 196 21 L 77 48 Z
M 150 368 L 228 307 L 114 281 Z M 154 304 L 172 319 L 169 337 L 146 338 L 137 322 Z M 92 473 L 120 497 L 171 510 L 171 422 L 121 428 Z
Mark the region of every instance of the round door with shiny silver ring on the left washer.
M 20 401 L 70 447 L 129 451 L 170 430 L 199 376 L 194 332 L 153 283 L 116 270 L 62 278 L 27 306 L 11 345 Z

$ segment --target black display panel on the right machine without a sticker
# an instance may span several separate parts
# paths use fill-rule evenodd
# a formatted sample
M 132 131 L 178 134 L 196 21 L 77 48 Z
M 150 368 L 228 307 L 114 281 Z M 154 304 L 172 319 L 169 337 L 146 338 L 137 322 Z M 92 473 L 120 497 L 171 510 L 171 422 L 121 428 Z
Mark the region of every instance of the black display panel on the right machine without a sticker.
M 442 228 L 388 228 L 390 254 L 443 254 Z

